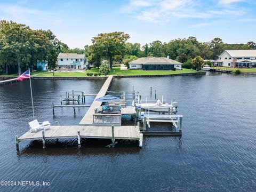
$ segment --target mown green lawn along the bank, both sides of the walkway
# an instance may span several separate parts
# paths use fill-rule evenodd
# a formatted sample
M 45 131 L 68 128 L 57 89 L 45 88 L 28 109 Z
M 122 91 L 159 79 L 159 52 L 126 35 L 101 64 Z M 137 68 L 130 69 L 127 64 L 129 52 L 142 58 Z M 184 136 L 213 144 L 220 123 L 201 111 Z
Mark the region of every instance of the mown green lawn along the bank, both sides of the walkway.
M 98 68 L 93 68 L 91 70 L 87 70 L 85 72 L 57 72 L 54 74 L 54 77 L 87 77 L 86 73 L 95 73 L 99 72 Z M 132 69 L 132 70 L 121 70 L 120 67 L 113 67 L 108 75 L 167 75 L 167 74 L 180 74 L 180 73 L 197 73 L 196 70 L 191 69 L 182 69 L 182 70 L 142 70 L 142 69 Z M 12 75 L 1 75 L 4 76 L 12 76 L 17 77 L 17 74 Z M 31 74 L 31 76 L 35 77 L 53 77 L 53 73 L 47 71 L 38 71 Z M 100 77 L 103 77 L 101 75 Z

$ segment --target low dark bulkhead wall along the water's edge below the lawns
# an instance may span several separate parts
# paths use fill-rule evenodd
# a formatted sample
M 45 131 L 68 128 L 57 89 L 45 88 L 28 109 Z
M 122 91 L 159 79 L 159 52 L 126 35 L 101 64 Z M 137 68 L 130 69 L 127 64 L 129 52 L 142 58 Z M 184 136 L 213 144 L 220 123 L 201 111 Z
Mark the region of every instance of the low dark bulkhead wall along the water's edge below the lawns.
M 186 75 L 205 75 L 206 71 L 202 72 L 194 72 L 194 73 L 180 73 L 180 74 L 163 74 L 163 75 L 115 75 L 113 78 L 129 78 L 129 77 L 166 77 L 166 76 L 186 76 Z M 7 80 L 7 79 L 13 79 L 17 77 L 0 77 L 1 80 Z M 102 77 L 36 77 L 31 76 L 31 79 L 106 79 L 108 76 L 102 76 Z M 1 82 L 0 82 L 1 83 Z

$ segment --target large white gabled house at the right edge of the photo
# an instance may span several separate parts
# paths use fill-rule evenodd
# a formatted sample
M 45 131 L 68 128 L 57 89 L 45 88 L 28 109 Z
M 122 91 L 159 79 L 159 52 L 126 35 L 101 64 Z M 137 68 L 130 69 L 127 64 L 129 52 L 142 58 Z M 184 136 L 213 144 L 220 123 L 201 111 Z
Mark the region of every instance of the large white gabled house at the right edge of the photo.
M 225 50 L 212 63 L 223 67 L 256 67 L 256 50 Z

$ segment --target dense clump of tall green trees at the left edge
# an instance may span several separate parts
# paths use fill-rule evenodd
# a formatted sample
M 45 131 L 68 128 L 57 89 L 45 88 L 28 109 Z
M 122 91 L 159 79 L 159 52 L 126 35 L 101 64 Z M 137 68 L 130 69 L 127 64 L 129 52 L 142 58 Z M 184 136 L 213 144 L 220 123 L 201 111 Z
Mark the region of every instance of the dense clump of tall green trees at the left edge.
M 28 67 L 35 69 L 37 61 L 45 61 L 50 68 L 55 68 L 58 54 L 67 49 L 51 30 L 33 30 L 14 21 L 0 21 L 2 73 L 20 75 Z

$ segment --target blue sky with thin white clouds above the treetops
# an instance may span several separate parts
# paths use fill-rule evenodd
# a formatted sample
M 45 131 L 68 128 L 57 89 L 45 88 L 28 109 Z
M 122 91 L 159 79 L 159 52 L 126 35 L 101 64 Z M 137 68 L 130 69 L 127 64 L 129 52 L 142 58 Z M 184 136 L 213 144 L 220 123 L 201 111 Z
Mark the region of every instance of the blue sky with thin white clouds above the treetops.
M 208 42 L 256 42 L 254 0 L 3 1 L 0 20 L 51 29 L 69 47 L 91 44 L 99 33 L 124 31 L 131 43 L 195 36 Z

